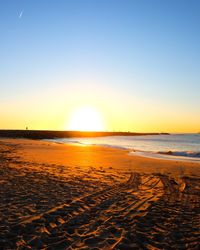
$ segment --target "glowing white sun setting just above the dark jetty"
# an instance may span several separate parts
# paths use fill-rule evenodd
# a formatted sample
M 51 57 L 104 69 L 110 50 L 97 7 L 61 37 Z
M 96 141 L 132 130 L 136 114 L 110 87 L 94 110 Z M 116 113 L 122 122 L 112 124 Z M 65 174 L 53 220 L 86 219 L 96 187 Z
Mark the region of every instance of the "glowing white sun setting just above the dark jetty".
M 67 127 L 71 131 L 103 131 L 105 128 L 101 113 L 93 107 L 74 110 Z

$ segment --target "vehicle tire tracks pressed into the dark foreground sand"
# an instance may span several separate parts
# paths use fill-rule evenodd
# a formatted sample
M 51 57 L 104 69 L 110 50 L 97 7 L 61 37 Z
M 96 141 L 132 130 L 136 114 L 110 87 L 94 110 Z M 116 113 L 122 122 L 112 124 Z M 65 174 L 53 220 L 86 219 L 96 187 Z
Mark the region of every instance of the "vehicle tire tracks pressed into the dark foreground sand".
M 132 173 L 126 183 L 77 198 L 15 225 L 12 229 L 23 235 L 15 244 L 46 249 L 114 249 L 162 194 L 159 177 Z

